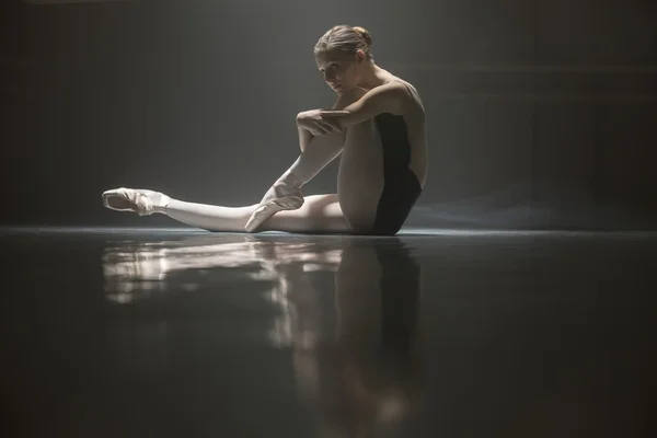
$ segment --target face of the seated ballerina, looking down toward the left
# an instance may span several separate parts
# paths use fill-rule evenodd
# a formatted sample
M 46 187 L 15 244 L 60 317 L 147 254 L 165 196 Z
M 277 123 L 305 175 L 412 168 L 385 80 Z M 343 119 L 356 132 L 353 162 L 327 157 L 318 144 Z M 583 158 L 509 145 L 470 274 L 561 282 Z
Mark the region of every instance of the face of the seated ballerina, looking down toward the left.
M 342 50 L 326 50 L 320 51 L 315 58 L 324 81 L 338 94 L 346 93 L 358 84 L 359 59 L 365 60 L 362 50 L 358 50 L 356 55 Z

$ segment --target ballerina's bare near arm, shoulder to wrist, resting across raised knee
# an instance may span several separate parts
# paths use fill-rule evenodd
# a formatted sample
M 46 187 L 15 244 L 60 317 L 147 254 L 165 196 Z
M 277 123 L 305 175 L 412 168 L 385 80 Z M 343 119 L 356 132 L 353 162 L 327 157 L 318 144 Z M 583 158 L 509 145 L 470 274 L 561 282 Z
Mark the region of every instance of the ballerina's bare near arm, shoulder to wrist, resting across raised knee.
M 388 83 L 369 90 L 362 97 L 339 112 L 326 111 L 323 118 L 337 122 L 343 128 L 358 125 L 382 113 L 403 115 L 412 99 L 401 83 Z M 345 115 L 344 112 L 348 114 Z

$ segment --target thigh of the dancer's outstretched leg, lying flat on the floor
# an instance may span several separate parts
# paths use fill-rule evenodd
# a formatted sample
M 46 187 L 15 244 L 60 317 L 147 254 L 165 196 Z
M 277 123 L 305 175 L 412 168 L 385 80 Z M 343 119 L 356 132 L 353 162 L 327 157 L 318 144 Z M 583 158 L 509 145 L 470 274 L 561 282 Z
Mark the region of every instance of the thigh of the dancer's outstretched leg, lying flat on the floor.
M 262 230 L 313 234 L 351 231 L 336 194 L 306 196 L 301 208 L 277 212 L 265 221 Z

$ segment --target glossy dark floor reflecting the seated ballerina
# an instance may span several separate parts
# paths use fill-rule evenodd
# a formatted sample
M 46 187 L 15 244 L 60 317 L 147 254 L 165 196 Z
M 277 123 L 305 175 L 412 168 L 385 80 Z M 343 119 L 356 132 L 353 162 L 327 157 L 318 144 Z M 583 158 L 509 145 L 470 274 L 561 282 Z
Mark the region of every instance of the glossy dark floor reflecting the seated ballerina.
M 2 231 L 4 437 L 643 437 L 649 233 Z

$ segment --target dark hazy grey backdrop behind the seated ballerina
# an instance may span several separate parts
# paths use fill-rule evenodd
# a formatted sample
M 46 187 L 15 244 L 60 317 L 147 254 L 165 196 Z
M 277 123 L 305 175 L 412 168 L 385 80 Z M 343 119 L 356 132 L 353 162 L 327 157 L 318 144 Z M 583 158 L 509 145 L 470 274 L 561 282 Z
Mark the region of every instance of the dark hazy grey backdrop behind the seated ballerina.
M 424 100 L 408 224 L 657 223 L 657 2 L 34 3 L 0 11 L 4 224 L 176 224 L 104 209 L 117 186 L 256 203 L 299 152 L 296 114 L 334 101 L 312 57 L 334 24 L 368 28 Z

